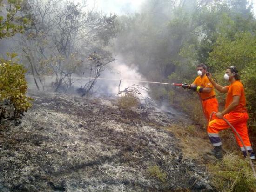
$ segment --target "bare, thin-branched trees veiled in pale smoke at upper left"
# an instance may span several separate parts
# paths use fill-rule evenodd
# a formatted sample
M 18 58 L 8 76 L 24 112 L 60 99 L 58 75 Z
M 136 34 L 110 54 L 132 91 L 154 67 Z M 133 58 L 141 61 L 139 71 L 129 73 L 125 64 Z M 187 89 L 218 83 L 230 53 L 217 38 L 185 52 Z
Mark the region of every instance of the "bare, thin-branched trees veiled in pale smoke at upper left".
M 115 36 L 115 15 L 85 10 L 85 5 L 71 1 L 64 5 L 60 0 L 27 1 L 23 13 L 33 22 L 21 45 L 38 89 L 37 79 L 44 85 L 44 75 L 55 75 L 55 91 L 67 90 L 74 82 L 72 76 L 81 75 L 88 65 L 88 55 L 102 52 Z

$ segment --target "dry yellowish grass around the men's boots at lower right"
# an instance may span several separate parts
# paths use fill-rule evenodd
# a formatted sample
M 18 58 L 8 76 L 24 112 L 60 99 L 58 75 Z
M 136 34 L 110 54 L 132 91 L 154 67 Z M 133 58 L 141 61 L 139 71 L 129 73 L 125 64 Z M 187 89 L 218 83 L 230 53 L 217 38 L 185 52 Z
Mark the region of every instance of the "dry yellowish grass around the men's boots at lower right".
M 222 161 L 216 161 L 213 156 L 206 155 L 212 146 L 209 142 L 202 144 L 202 135 L 207 135 L 207 133 L 201 128 L 180 124 L 171 126 L 168 130 L 181 140 L 182 152 L 185 157 L 197 159 L 206 164 L 211 182 L 217 191 L 256 192 L 256 180 L 249 161 L 243 158 L 240 151 L 236 151 L 237 146 L 234 145 L 236 141 L 231 130 L 222 132 L 222 139 L 226 149 L 236 152 L 225 154 Z

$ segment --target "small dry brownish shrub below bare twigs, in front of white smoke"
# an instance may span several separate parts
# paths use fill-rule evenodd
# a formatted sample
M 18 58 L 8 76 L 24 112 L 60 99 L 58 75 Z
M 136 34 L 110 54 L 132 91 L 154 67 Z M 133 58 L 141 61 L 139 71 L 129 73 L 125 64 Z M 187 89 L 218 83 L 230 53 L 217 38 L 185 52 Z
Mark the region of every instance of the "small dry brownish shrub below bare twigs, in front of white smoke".
M 127 93 L 117 99 L 117 106 L 120 109 L 128 110 L 132 107 L 137 107 L 138 105 L 139 101 L 137 98 L 135 98 L 133 93 Z

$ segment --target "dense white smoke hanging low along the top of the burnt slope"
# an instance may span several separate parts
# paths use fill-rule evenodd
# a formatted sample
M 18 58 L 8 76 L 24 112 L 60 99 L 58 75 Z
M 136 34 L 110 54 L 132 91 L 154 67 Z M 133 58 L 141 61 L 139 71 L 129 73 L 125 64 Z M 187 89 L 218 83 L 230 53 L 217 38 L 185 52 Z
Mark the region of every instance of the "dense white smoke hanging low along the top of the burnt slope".
M 138 71 L 138 67 L 135 64 L 127 65 L 124 61 L 121 60 L 121 58 L 118 58 L 118 60 L 115 60 L 112 62 L 109 67 L 109 70 L 105 70 L 102 72 L 101 76 L 97 79 L 96 84 L 94 85 L 93 93 L 95 96 L 116 96 L 118 93 L 118 88 L 120 91 L 124 90 L 125 88 L 128 88 L 132 85 L 139 85 L 139 86 L 145 86 L 149 87 L 147 83 L 144 82 L 137 82 L 137 81 L 146 81 L 145 79 Z M 28 88 L 29 89 L 36 89 L 34 79 L 32 75 L 27 75 L 26 77 L 28 82 Z M 49 88 L 52 83 L 54 83 L 56 76 L 44 76 L 44 84 L 45 89 Z M 121 80 L 122 79 L 122 80 Z M 72 84 L 73 90 L 68 90 L 68 93 L 76 93 L 76 89 L 83 87 L 88 81 L 90 80 L 89 77 L 79 77 L 74 75 Z M 121 84 L 120 84 L 121 80 Z M 120 86 L 119 86 L 120 84 Z M 42 87 L 40 87 L 42 88 Z M 65 89 L 65 88 L 64 88 Z M 63 91 L 63 90 L 60 90 Z M 141 92 L 143 98 L 149 97 L 148 92 L 139 89 Z M 140 98 L 141 98 L 140 97 Z

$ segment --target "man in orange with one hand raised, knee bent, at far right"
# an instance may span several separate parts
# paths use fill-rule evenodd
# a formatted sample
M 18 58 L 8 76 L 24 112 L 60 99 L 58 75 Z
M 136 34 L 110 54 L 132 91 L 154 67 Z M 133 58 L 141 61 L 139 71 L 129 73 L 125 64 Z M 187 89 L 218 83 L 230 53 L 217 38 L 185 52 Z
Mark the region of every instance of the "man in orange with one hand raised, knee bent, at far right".
M 249 119 L 249 116 L 245 108 L 246 100 L 244 87 L 239 80 L 240 77 L 236 67 L 231 66 L 226 69 L 224 79 L 231 83 L 229 86 L 223 87 L 218 85 L 213 81 L 211 74 L 208 74 L 207 77 L 219 92 L 227 93 L 225 109 L 222 112 L 218 112 L 216 114 L 217 118 L 210 121 L 207 127 L 209 139 L 214 146 L 214 149 L 212 150 L 213 155 L 215 155 L 216 158 L 222 158 L 223 156 L 222 142 L 219 136 L 219 131 L 229 128 L 229 125 L 222 119 L 224 117 L 229 121 L 229 123 L 231 123 L 232 126 L 234 126 L 236 131 L 243 139 L 243 142 L 250 154 L 250 158 L 255 159 L 255 153 L 252 150 L 246 126 L 246 122 Z M 236 140 L 241 148 L 241 151 L 243 152 L 243 155 L 246 157 L 247 154 L 245 149 L 237 136 Z

